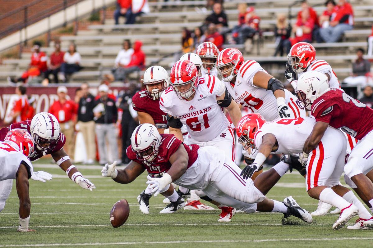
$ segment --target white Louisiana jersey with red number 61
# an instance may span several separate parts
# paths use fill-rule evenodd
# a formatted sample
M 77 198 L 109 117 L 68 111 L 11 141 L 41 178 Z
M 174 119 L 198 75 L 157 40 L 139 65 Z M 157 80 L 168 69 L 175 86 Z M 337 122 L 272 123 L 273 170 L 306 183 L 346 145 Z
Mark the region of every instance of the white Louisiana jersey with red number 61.
M 228 128 L 229 121 L 222 107 L 217 104 L 217 93 L 225 87 L 214 76 L 198 79 L 198 86 L 191 101 L 178 98 L 172 87 L 162 92 L 160 109 L 186 125 L 192 139 L 199 142 L 213 140 Z

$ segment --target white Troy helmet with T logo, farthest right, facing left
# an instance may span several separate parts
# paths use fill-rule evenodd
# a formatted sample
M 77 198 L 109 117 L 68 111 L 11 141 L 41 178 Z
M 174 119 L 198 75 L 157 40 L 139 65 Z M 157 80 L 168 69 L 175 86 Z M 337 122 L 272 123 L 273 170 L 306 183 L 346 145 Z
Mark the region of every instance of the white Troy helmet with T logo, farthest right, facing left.
M 311 110 L 312 103 L 330 90 L 327 76 L 320 71 L 306 71 L 297 82 L 297 105 L 301 109 Z

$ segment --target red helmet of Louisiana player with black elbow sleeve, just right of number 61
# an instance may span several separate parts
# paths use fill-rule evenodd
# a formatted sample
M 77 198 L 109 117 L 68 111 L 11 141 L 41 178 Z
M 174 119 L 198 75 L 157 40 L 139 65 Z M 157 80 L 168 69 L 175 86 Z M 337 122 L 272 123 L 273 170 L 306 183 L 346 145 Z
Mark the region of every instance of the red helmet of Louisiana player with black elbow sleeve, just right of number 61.
M 238 73 L 239 68 L 244 63 L 244 56 L 236 48 L 225 48 L 219 53 L 216 60 L 216 67 L 220 76 L 225 82 L 231 82 Z M 224 70 L 225 66 L 231 66 L 228 70 Z

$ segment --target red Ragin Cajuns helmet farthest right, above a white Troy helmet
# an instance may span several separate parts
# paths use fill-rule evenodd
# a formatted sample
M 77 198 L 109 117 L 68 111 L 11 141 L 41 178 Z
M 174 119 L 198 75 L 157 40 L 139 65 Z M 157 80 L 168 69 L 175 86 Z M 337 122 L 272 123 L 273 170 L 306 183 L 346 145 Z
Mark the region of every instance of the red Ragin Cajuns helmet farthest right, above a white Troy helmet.
M 288 54 L 288 63 L 297 73 L 302 73 L 314 60 L 316 60 L 316 50 L 307 42 L 294 44 Z

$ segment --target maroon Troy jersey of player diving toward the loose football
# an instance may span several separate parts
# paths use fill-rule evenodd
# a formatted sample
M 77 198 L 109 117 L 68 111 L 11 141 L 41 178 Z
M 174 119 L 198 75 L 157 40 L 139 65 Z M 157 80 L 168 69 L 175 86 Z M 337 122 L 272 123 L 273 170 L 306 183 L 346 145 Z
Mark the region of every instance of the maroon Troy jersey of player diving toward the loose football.
M 181 142 L 178 138 L 175 137 L 173 134 L 161 134 L 162 140 L 161 144 L 159 145 L 159 151 L 157 157 L 151 162 L 151 165 L 147 165 L 141 160 L 137 159 L 136 153 L 132 151 L 131 146 L 127 147 L 127 156 L 129 159 L 140 163 L 145 166 L 148 173 L 151 175 L 160 174 L 162 172 L 167 172 L 171 168 L 171 163 L 169 162 L 170 157 L 173 153 L 178 150 L 180 144 L 183 144 L 185 147 L 186 152 L 188 153 L 188 168 L 192 166 L 192 164 L 198 158 L 198 149 L 200 146 L 196 144 L 186 145 Z

